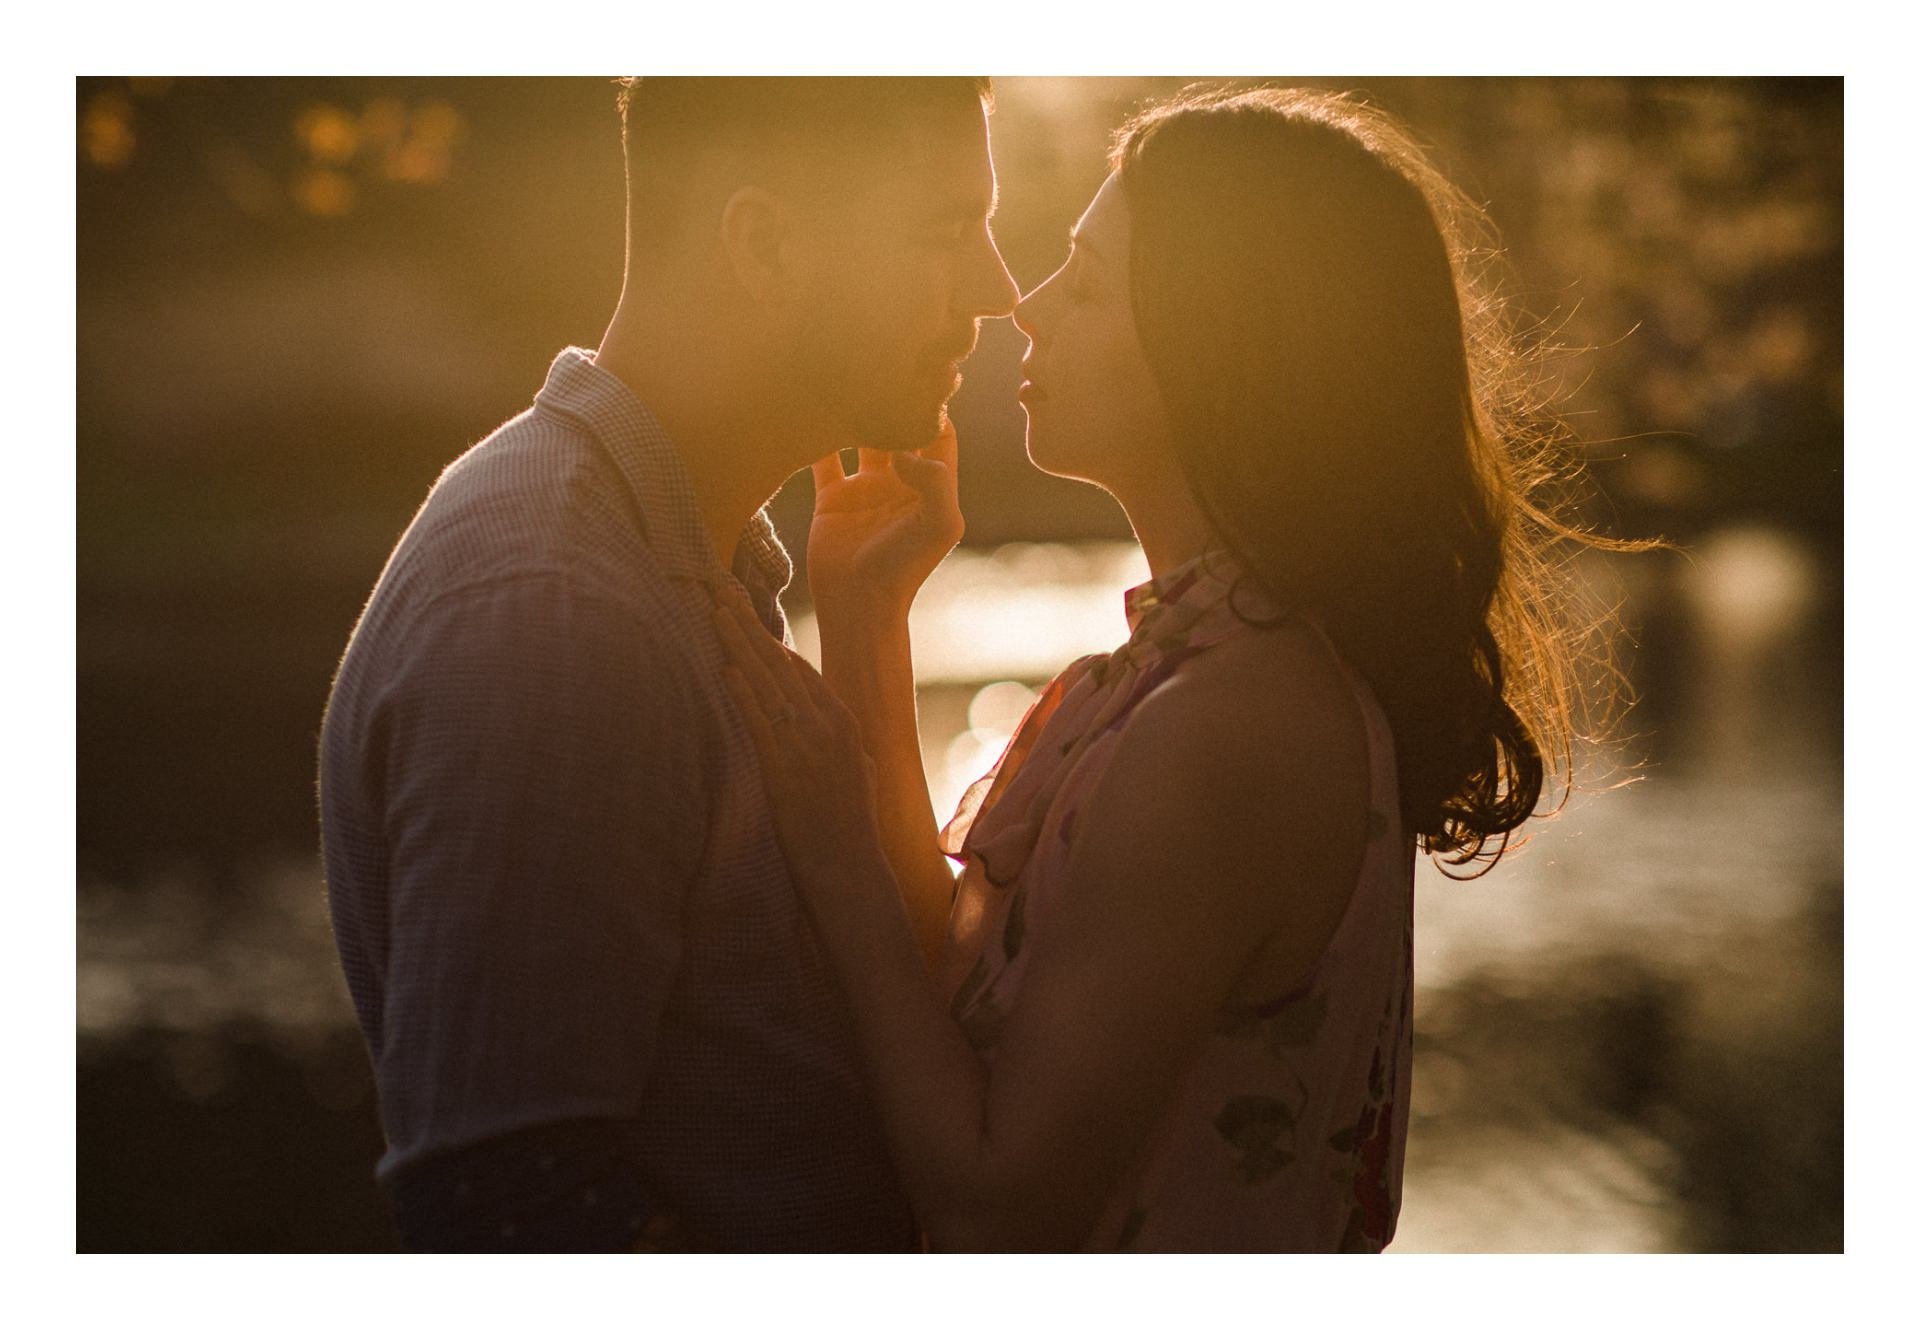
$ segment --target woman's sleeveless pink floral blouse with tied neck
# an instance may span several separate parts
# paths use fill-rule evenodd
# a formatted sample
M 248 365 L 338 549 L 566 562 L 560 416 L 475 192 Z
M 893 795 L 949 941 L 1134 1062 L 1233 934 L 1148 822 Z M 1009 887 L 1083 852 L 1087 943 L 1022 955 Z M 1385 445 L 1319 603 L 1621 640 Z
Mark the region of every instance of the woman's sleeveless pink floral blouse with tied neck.
M 1129 712 L 1181 662 L 1260 631 L 1244 620 L 1271 618 L 1271 603 L 1217 551 L 1133 587 L 1127 645 L 1068 666 L 962 798 L 941 837 L 966 864 L 947 983 L 983 1056 L 1020 1000 L 1027 942 L 1066 889 L 1075 814 Z M 1400 823 L 1386 718 L 1365 681 L 1344 662 L 1342 672 L 1365 718 L 1371 770 L 1352 904 L 1300 990 L 1236 994 L 1219 1011 L 1091 1249 L 1379 1251 L 1394 1236 L 1411 1065 L 1413 843 Z

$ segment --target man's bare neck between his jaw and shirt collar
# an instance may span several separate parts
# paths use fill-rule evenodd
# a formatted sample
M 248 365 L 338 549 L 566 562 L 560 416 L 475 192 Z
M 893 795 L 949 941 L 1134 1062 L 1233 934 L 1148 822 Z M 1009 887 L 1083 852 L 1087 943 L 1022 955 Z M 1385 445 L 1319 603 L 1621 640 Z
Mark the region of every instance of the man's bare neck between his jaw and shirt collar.
M 680 326 L 639 317 L 622 301 L 593 359 L 634 390 L 674 441 L 714 558 L 726 568 L 747 520 L 816 453 L 781 420 L 766 384 L 751 382 L 753 374 L 699 336 L 680 336 Z

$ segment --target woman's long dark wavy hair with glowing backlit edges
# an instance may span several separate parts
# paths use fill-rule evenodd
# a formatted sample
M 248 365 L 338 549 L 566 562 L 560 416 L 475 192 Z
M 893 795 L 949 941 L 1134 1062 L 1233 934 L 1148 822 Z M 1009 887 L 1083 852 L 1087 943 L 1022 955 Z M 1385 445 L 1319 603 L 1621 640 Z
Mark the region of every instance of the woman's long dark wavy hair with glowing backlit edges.
M 1605 635 L 1567 555 L 1628 547 L 1563 516 L 1576 468 L 1496 299 L 1492 226 L 1346 94 L 1187 90 L 1119 129 L 1112 167 L 1196 501 L 1367 677 L 1419 843 L 1492 867 L 1549 777 L 1571 789 L 1597 712 L 1582 654 Z

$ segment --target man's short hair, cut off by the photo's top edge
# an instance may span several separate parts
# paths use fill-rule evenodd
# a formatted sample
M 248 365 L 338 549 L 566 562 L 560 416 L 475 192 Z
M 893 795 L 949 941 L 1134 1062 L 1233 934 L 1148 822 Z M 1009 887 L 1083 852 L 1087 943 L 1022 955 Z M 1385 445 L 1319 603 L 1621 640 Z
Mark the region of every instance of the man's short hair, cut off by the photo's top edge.
M 657 248 L 678 234 L 701 163 L 778 184 L 885 148 L 916 121 L 979 107 L 993 109 L 993 79 L 622 79 L 628 238 Z

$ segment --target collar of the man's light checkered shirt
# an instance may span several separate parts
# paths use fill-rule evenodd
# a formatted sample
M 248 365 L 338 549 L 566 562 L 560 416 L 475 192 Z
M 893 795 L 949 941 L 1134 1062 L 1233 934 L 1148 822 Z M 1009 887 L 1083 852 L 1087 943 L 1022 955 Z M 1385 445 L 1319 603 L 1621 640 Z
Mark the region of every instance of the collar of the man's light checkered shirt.
M 647 403 L 618 376 L 593 363 L 593 351 L 578 345 L 561 351 L 534 405 L 578 420 L 601 441 L 634 491 L 647 522 L 647 543 L 668 576 L 718 585 L 732 572 L 745 583 L 762 616 L 780 614 L 780 593 L 793 580 L 793 558 L 780 543 L 766 507 L 747 520 L 739 545 L 728 551 L 732 568 L 722 568 L 701 522 L 693 478 L 680 449 L 647 411 Z

